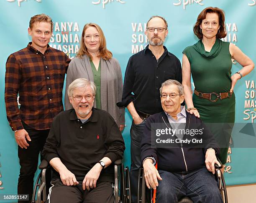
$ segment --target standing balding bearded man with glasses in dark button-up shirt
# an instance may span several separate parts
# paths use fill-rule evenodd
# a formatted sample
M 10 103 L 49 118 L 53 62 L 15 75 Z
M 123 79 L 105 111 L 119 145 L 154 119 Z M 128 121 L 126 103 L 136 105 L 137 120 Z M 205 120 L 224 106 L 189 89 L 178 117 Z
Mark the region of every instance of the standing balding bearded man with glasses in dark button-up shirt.
M 141 167 L 141 137 L 147 117 L 162 111 L 159 88 L 174 79 L 182 82 L 179 59 L 163 45 L 168 24 L 161 16 L 152 16 L 145 34 L 149 45 L 128 61 L 122 101 L 118 107 L 127 107 L 133 118 L 131 126 L 131 200 L 137 201 L 138 169 Z

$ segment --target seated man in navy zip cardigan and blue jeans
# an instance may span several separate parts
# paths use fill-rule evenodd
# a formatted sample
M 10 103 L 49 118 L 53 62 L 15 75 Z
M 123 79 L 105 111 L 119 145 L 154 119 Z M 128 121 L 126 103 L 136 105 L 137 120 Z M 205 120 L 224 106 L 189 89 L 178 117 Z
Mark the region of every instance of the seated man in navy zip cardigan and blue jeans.
M 197 203 L 222 203 L 213 175 L 214 164 L 220 165 L 213 135 L 181 106 L 182 84 L 167 80 L 160 95 L 164 111 L 147 119 L 141 141 L 146 185 L 157 187 L 156 203 L 177 203 L 182 196 Z

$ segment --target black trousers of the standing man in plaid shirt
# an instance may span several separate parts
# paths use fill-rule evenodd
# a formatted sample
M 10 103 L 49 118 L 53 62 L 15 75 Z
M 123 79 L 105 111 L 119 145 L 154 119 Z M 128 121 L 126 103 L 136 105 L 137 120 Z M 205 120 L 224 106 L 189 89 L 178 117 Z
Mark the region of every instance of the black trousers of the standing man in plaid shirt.
M 20 159 L 20 175 L 18 179 L 18 194 L 28 194 L 28 201 L 18 201 L 18 203 L 30 203 L 33 194 L 33 179 L 38 166 L 38 155 L 43 150 L 44 143 L 49 134 L 49 129 L 32 129 L 22 122 L 24 129 L 28 132 L 31 142 L 28 142 L 27 149 L 18 146 L 18 157 Z M 42 156 L 41 156 L 42 160 Z

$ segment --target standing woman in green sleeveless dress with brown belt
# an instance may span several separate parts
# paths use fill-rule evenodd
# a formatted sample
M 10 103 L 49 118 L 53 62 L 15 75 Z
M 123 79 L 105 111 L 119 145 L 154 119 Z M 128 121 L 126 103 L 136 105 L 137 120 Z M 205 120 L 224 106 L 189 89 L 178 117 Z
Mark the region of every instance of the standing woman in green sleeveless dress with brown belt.
M 223 123 L 210 128 L 221 148 L 218 157 L 225 164 L 232 124 L 235 122 L 233 89 L 241 77 L 253 70 L 254 64 L 233 43 L 220 40 L 226 36 L 225 14 L 220 8 L 202 10 L 194 25 L 194 33 L 200 40 L 185 48 L 182 58 L 182 84 L 187 111 L 205 123 Z M 232 58 L 243 68 L 231 76 Z M 191 74 L 195 85 L 193 96 Z

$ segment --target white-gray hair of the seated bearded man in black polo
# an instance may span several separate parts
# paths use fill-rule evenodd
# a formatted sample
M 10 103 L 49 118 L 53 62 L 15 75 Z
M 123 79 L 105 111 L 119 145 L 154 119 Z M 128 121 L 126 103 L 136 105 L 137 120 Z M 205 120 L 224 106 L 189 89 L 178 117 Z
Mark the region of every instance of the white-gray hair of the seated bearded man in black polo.
M 73 96 L 73 91 L 74 89 L 77 89 L 77 88 L 85 88 L 87 85 L 90 85 L 91 88 L 92 88 L 92 91 L 93 91 L 93 96 L 95 96 L 95 93 L 96 93 L 96 86 L 93 82 L 85 79 L 85 78 L 78 78 L 78 79 L 75 79 L 68 87 L 67 89 L 67 93 L 68 93 L 68 96 Z

